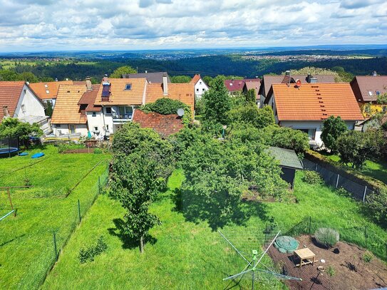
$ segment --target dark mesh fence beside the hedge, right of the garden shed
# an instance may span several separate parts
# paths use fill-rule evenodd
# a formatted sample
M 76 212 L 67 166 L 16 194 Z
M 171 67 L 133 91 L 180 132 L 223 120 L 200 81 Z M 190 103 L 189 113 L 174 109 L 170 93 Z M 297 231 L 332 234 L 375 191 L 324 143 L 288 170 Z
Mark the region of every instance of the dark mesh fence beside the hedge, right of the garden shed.
M 303 163 L 305 170 L 313 170 L 319 172 L 319 174 L 327 185 L 331 185 L 335 188 L 344 188 L 344 190 L 350 192 L 352 197 L 354 197 L 356 200 L 361 200 L 362 202 L 365 202 L 366 195 L 369 195 L 373 192 L 366 185 L 359 185 L 358 183 L 349 180 L 348 178 L 340 175 L 339 173 L 328 170 L 315 162 L 304 159 Z

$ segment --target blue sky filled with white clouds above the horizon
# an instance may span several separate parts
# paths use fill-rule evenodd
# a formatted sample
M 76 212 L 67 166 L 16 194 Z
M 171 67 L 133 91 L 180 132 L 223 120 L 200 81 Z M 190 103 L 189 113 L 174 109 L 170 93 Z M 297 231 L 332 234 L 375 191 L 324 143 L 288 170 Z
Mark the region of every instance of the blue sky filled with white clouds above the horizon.
M 0 51 L 386 44 L 387 1 L 0 0 Z

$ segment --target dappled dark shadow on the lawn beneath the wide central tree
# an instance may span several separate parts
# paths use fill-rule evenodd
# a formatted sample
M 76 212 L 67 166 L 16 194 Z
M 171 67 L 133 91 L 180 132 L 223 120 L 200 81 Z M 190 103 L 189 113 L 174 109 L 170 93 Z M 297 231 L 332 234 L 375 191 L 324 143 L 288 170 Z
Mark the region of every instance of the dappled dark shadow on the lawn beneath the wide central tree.
M 205 220 L 212 231 L 225 227 L 229 223 L 246 225 L 250 217 L 259 217 L 264 222 L 269 220 L 267 206 L 262 202 L 244 200 L 226 208 L 222 207 L 222 201 L 211 202 L 206 197 L 198 197 L 190 190 L 180 188 L 175 189 L 172 200 L 175 203 L 174 210 L 181 212 L 187 221 L 198 224 Z

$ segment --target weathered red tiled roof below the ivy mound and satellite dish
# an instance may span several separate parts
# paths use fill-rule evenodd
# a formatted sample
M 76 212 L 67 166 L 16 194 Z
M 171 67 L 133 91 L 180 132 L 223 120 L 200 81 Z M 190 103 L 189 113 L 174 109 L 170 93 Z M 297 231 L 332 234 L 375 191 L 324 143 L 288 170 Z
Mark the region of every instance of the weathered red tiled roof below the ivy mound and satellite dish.
M 139 123 L 142 128 L 152 128 L 164 137 L 177 133 L 184 127 L 178 115 L 146 114 L 139 109 L 134 111 L 133 122 Z

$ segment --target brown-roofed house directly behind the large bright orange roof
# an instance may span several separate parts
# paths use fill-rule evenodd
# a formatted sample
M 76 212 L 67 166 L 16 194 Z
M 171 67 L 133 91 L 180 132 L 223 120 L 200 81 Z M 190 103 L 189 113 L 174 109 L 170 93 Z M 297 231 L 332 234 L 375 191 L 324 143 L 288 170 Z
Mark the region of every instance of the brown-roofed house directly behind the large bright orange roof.
M 261 86 L 259 88 L 259 100 L 260 107 L 264 104 L 264 100 L 269 93 L 270 88 L 272 88 L 273 83 L 296 83 L 297 80 L 300 80 L 301 83 L 334 83 L 334 76 L 332 75 L 291 75 L 290 71 L 287 71 L 285 75 L 281 76 L 271 76 L 264 75 L 261 81 Z

